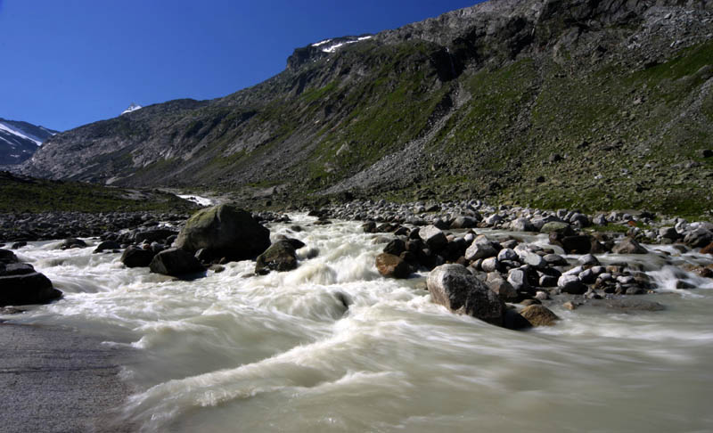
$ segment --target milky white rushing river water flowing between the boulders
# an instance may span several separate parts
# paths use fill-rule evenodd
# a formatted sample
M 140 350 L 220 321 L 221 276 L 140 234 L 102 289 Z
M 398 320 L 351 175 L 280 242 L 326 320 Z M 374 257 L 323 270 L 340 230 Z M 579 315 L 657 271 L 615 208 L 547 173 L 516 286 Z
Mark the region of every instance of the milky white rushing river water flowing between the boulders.
M 508 331 L 430 303 L 426 274 L 381 278 L 359 224 L 293 217 L 304 231 L 270 229 L 307 243 L 299 268 L 258 277 L 245 261 L 177 281 L 31 243 L 18 256 L 64 298 L 4 318 L 137 348 L 119 417 L 145 431 L 713 430 L 713 281 L 676 290 L 650 254 L 664 289 L 644 298 L 666 310 L 553 306 L 556 326 Z

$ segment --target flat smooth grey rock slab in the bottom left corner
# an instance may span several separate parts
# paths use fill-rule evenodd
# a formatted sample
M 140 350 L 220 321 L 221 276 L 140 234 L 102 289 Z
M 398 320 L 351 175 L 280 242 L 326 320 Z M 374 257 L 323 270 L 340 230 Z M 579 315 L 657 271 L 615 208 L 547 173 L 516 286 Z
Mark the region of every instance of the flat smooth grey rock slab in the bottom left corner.
M 71 329 L 0 323 L 0 432 L 135 431 L 112 413 L 132 355 Z

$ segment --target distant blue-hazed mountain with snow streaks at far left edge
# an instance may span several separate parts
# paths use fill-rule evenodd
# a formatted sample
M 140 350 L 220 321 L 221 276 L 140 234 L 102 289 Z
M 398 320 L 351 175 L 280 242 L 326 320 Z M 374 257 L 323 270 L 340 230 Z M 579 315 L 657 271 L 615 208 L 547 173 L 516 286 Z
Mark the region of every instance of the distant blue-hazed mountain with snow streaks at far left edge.
M 37 151 L 37 146 L 57 133 L 27 122 L 0 118 L 0 165 L 24 162 Z

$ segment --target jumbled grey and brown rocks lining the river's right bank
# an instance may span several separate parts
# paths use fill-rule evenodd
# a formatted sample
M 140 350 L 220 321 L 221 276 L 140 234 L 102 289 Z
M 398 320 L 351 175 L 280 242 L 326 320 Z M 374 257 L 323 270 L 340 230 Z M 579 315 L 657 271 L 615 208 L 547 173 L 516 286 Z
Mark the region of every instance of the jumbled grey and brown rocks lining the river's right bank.
M 430 270 L 434 279 L 440 278 L 445 269 L 449 270 L 448 274 L 467 271 L 472 277 L 467 280 L 477 279 L 479 284 L 463 282 L 455 284 L 453 291 L 444 291 L 442 284 L 430 283 L 429 289 L 437 290 L 435 293 L 431 290 L 434 302 L 457 313 L 479 317 L 472 313 L 472 307 L 464 307 L 464 293 L 487 287 L 502 302 L 528 304 L 526 309 L 520 311 L 520 317 L 535 326 L 552 324 L 556 320 L 556 315 L 545 306 L 539 306 L 545 300 L 564 297 L 562 299 L 576 308 L 587 300 L 641 295 L 654 290 L 654 284 L 641 272 L 640 266 L 626 258 L 650 252 L 637 239 L 647 243 L 681 242 L 677 246 L 679 249 L 703 247 L 701 252 L 704 254 L 708 249 L 713 251 L 713 245 L 708 247 L 713 239 L 713 225 L 689 224 L 680 218 L 657 222 L 653 215 L 646 213 L 634 216 L 611 212 L 589 216 L 570 210 L 551 212 L 504 206 L 493 208 L 477 200 L 443 204 L 394 204 L 381 200 L 336 205 L 322 209 L 320 214 L 366 220 L 362 225 L 366 233 L 393 233 L 393 239 L 384 239 L 388 243 L 377 258 L 377 268 L 382 275 L 396 276 L 385 272 L 385 258 L 389 258 L 391 263 L 400 259 L 399 262 L 409 266 L 409 273 L 418 269 Z M 671 223 L 675 224 L 666 226 Z M 658 230 L 653 228 L 656 224 L 661 225 Z M 602 227 L 602 232 L 597 232 L 597 225 L 607 226 Z M 611 225 L 629 227 L 627 235 L 607 233 Z M 568 260 L 556 254 L 554 249 L 520 241 L 517 233 L 494 238 L 479 234 L 480 228 L 547 233 L 548 243 L 560 247 L 568 255 L 581 257 Z M 583 230 L 586 228 L 588 230 Z M 595 254 L 600 257 L 607 254 L 619 256 L 608 258 L 607 264 L 602 265 Z M 453 266 L 458 266 L 457 271 Z M 699 274 L 708 274 L 705 272 L 709 271 L 708 267 L 701 269 L 703 271 Z M 401 278 L 406 276 L 406 272 L 400 275 Z M 471 289 L 464 290 L 465 286 Z M 478 289 L 473 289 L 476 287 Z M 513 315 L 515 313 L 506 310 L 502 321 L 496 322 L 521 328 L 521 318 Z M 488 322 L 494 323 L 489 319 Z

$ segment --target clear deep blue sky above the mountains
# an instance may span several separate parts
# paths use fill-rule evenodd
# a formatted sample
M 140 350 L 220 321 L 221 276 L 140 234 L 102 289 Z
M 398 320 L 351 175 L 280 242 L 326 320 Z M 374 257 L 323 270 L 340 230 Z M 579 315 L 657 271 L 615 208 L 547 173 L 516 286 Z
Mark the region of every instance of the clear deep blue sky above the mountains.
M 477 0 L 0 0 L 0 118 L 66 130 L 131 102 L 211 99 L 282 71 L 294 48 Z

